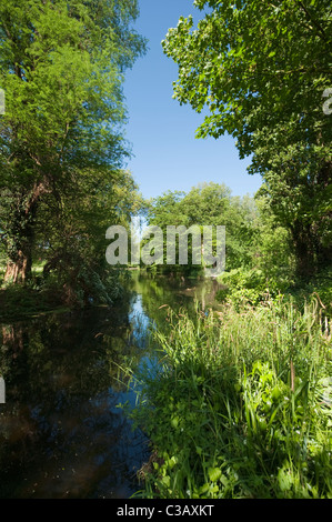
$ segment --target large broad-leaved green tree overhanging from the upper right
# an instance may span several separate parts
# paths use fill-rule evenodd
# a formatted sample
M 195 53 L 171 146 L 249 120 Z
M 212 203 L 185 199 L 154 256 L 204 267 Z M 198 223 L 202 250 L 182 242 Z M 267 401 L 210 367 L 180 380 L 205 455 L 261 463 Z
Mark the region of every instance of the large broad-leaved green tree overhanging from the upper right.
M 179 66 L 174 98 L 208 111 L 197 135 L 238 141 L 260 172 L 271 209 L 290 231 L 296 271 L 331 262 L 332 86 L 328 0 L 195 0 L 204 18 L 180 18 L 163 41 Z

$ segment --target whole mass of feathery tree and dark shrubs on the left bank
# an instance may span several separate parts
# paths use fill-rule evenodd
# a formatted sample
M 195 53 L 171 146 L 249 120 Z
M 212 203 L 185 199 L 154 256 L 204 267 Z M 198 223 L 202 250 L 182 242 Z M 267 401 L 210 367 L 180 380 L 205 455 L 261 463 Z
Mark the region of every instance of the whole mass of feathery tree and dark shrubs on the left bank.
M 131 29 L 137 1 L 98 3 L 0 7 L 3 282 L 31 282 L 42 261 L 37 287 L 58 290 L 71 305 L 117 293 L 104 232 L 125 224 L 139 204 L 122 168 L 129 154 L 122 82 L 145 42 Z

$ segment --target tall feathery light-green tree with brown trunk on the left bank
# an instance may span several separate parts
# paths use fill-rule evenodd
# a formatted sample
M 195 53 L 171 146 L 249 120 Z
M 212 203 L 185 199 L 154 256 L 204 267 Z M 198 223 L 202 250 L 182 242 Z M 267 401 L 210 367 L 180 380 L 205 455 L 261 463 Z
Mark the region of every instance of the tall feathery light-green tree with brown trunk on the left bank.
M 6 280 L 31 273 L 36 223 L 44 199 L 74 190 L 78 178 L 109 179 L 128 155 L 124 70 L 144 51 L 130 24 L 137 1 L 27 0 L 0 6 L 0 230 Z

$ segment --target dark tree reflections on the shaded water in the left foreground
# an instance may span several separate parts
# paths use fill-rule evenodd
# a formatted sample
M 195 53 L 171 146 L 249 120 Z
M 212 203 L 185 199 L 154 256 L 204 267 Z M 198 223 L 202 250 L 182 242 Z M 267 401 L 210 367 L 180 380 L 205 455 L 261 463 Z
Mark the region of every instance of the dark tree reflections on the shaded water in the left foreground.
M 142 353 L 128 308 L 11 324 L 1 343 L 0 496 L 84 496 L 125 483 L 142 458 L 115 408 L 127 379 L 119 369 Z

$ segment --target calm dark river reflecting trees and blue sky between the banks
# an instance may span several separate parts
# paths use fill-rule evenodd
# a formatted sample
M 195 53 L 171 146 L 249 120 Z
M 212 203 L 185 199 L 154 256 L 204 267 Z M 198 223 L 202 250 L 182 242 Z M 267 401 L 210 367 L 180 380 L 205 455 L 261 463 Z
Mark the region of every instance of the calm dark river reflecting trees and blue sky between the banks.
M 128 372 L 153 359 L 151 328 L 168 307 L 204 308 L 215 284 L 139 272 L 114 308 L 0 324 L 1 499 L 128 499 L 149 442 L 119 405 L 134 405 Z

